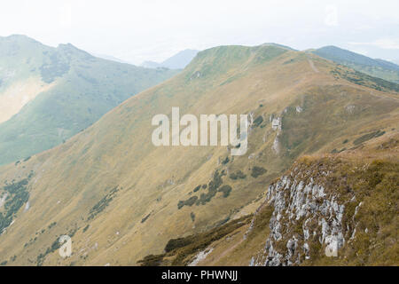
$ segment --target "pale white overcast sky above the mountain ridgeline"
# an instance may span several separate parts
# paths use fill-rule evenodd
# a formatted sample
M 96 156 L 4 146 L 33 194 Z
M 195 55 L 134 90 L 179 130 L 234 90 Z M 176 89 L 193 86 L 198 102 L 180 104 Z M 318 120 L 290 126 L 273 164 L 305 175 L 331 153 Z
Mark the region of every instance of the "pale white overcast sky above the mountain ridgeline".
M 184 49 L 262 43 L 336 45 L 399 63 L 399 1 L 2 1 L 0 36 L 13 34 L 137 65 Z

